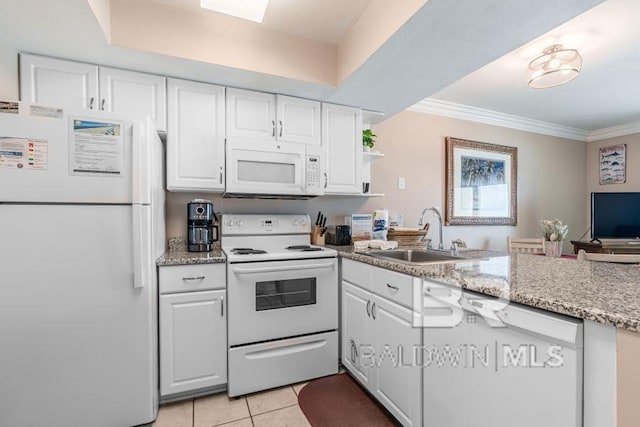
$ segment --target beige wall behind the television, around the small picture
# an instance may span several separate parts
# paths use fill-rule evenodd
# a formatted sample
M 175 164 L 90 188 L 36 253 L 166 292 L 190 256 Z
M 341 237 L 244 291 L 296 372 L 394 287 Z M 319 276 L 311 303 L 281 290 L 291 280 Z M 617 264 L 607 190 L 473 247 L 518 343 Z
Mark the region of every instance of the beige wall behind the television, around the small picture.
M 600 148 L 627 144 L 627 182 L 600 185 Z M 585 224 L 590 224 L 592 192 L 640 191 L 640 133 L 603 139 L 587 144 L 587 192 Z

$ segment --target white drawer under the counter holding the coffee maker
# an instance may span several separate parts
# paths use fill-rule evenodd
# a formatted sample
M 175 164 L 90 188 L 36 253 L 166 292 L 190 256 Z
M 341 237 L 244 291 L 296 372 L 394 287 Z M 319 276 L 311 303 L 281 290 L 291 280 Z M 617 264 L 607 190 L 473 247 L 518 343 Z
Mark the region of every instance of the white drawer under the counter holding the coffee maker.
M 224 289 L 226 264 L 197 264 L 160 267 L 160 293 Z

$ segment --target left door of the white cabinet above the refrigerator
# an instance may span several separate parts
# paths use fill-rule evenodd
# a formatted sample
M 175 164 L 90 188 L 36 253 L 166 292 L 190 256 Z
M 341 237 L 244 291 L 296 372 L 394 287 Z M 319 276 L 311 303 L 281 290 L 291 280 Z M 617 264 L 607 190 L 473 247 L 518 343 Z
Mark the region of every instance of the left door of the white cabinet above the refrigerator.
M 98 67 L 20 54 L 20 99 L 32 104 L 97 109 Z

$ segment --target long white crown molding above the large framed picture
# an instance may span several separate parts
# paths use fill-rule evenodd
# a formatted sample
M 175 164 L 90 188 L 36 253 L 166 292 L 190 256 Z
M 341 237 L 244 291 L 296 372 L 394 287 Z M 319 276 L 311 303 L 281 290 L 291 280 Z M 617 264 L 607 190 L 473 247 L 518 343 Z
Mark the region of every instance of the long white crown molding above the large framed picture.
M 497 111 L 485 110 L 483 108 L 469 107 L 467 105 L 456 104 L 455 102 L 441 101 L 432 98 L 425 98 L 417 104 L 407 108 L 407 110 L 502 126 L 527 132 L 540 133 L 543 135 L 557 136 L 560 138 L 568 138 L 577 141 L 586 142 L 589 137 L 589 131 L 584 129 L 557 125 L 555 123 L 543 122 L 540 120 L 527 119 L 525 117 L 499 113 Z

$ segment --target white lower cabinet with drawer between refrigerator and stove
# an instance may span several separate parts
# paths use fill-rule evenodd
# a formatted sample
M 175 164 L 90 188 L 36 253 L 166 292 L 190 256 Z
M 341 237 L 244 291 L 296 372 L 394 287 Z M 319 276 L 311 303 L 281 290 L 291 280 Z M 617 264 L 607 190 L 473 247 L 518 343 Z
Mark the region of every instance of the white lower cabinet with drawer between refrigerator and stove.
M 160 268 L 161 396 L 227 383 L 226 289 L 198 286 L 214 277 L 213 286 L 224 287 L 224 274 L 224 264 Z M 175 291 L 171 282 L 182 282 L 186 292 L 163 293 Z

